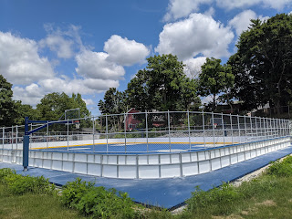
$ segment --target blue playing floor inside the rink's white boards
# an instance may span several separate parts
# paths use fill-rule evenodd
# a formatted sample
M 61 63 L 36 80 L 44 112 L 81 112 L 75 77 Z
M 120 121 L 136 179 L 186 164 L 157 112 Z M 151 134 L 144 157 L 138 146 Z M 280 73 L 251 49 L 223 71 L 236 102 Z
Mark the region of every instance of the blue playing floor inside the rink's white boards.
M 203 151 L 206 149 L 222 147 L 222 144 L 190 144 L 186 143 L 110 143 L 96 144 L 96 145 L 75 145 L 68 147 L 51 147 L 44 149 L 36 149 L 36 151 L 70 151 L 70 152 L 84 152 L 84 153 L 110 153 L 110 154 L 142 154 L 142 153 L 170 153 L 170 152 L 187 152 L 187 151 Z M 35 150 L 34 150 L 35 151 Z

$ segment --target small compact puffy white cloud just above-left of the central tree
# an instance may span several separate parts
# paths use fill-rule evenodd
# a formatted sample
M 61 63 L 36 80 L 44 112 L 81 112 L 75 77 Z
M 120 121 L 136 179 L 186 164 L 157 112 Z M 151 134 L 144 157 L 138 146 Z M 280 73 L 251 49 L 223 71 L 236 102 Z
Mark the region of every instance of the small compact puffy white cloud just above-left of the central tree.
M 121 66 L 132 66 L 135 63 L 145 62 L 150 50 L 141 43 L 121 36 L 110 36 L 104 44 L 104 51 L 109 54 L 109 60 Z

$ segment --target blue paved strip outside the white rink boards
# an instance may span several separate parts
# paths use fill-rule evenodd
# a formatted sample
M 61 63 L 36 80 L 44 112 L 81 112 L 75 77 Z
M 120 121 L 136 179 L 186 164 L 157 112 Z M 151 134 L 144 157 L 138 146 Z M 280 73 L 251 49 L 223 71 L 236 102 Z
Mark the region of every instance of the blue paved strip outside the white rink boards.
M 224 167 L 214 172 L 207 172 L 199 175 L 178 177 L 170 179 L 155 180 L 123 180 L 94 177 L 89 175 L 77 174 L 72 172 L 60 172 L 42 168 L 30 167 L 28 172 L 23 172 L 21 165 L 0 162 L 0 168 L 13 168 L 17 173 L 32 176 L 44 175 L 51 183 L 64 185 L 80 177 L 85 181 L 96 182 L 96 186 L 106 188 L 116 188 L 119 191 L 127 192 L 134 201 L 150 205 L 162 206 L 174 209 L 189 199 L 195 186 L 200 186 L 203 191 L 220 186 L 224 182 L 232 182 L 249 172 L 266 166 L 269 162 L 276 161 L 292 153 L 292 146 L 267 153 L 265 155 L 239 162 L 234 165 Z

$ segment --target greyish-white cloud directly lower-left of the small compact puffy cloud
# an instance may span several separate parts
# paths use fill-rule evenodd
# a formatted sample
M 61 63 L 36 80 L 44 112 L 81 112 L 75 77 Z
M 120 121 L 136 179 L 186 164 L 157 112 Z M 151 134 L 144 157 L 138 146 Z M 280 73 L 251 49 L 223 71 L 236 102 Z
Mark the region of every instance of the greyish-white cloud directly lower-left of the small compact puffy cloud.
M 121 66 L 111 62 L 109 54 L 84 50 L 76 57 L 77 73 L 87 78 L 120 79 L 125 70 Z

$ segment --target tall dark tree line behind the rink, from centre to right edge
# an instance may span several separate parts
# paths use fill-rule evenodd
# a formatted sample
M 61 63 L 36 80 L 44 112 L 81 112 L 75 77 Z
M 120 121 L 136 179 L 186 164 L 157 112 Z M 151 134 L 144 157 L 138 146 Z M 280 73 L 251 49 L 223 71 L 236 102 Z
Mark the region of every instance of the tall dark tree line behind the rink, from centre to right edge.
M 251 20 L 235 45 L 237 51 L 222 65 L 207 57 L 198 78 L 187 78 L 183 62 L 172 54 L 147 58 L 148 65 L 130 80 L 125 91 L 111 88 L 99 100 L 103 114 L 137 110 L 198 110 L 199 96 L 211 97 L 205 110 L 216 111 L 217 103 L 231 110 L 235 100 L 242 110 L 269 103 L 281 114 L 292 104 L 292 15 Z

